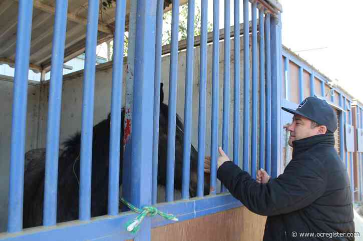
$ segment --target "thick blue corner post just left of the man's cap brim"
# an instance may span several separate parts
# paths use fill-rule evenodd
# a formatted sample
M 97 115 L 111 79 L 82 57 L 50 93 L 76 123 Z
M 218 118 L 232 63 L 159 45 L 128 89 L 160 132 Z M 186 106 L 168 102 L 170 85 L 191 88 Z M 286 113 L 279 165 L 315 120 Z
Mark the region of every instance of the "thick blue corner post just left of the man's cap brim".
M 281 14 L 271 19 L 271 177 L 277 177 L 281 157 Z

